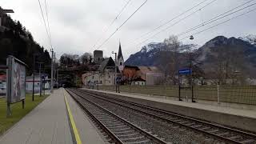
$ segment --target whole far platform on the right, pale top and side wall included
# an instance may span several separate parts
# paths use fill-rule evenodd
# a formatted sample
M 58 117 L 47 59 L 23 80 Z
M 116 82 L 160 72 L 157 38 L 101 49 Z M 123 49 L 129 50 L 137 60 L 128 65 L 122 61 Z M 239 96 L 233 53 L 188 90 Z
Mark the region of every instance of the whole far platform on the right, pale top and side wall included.
M 153 98 L 140 94 L 115 93 L 105 90 L 90 90 L 90 92 L 143 104 L 145 106 L 151 106 L 161 110 L 167 110 L 190 118 L 198 118 L 224 126 L 256 132 L 256 113 L 254 110 L 242 110 L 194 102 L 180 102 L 171 99 Z

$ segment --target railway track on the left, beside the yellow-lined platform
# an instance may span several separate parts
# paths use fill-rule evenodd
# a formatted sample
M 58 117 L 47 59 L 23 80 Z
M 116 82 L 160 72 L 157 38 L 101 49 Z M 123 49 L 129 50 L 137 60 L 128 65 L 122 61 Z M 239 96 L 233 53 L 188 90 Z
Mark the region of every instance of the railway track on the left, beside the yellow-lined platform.
M 155 135 L 142 130 L 133 123 L 128 122 L 126 119 L 119 117 L 106 110 L 104 107 L 91 102 L 89 99 L 76 94 L 74 90 L 67 90 L 72 98 L 78 102 L 79 106 L 86 111 L 86 114 L 93 119 L 98 127 L 110 138 L 110 143 L 126 143 L 126 144 L 166 144 Z

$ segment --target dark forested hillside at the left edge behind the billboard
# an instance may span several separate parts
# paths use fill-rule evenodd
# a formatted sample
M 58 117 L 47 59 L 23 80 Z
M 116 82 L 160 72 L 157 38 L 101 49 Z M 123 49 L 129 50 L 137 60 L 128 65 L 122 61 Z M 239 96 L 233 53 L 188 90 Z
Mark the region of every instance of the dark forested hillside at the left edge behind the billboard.
M 2 9 L 0 7 L 0 9 Z M 38 61 L 44 62 L 45 66 L 50 65 L 50 55 L 44 50 L 34 38 L 29 30 L 19 21 L 14 21 L 7 14 L 2 14 L 2 26 L 0 26 L 0 64 L 6 64 L 8 55 L 26 62 L 29 66 L 28 73 L 33 68 L 33 54 L 42 54 Z M 38 65 L 37 65 L 38 66 Z

